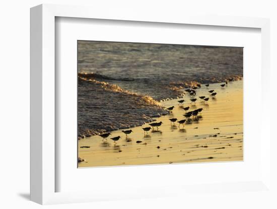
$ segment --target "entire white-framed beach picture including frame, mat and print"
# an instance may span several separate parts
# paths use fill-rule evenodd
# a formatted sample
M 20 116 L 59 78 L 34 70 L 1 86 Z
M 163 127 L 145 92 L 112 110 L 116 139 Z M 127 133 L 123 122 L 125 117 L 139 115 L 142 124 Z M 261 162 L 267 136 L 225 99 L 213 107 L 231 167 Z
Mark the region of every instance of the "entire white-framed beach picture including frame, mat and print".
M 32 8 L 31 200 L 269 194 L 268 59 L 268 19 Z

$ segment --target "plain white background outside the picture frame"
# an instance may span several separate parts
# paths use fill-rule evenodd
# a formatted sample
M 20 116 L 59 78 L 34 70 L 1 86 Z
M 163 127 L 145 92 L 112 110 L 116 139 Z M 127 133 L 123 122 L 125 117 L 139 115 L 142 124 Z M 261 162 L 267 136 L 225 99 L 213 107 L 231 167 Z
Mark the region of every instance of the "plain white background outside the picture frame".
M 197 11 L 203 14 L 219 14 L 246 17 L 271 18 L 271 80 L 276 77 L 277 65 L 277 15 L 274 1 L 7 1 L 0 7 L 1 20 L 1 103 L 0 103 L 0 133 L 1 133 L 1 174 L 0 174 L 0 206 L 2 208 L 37 208 L 36 203 L 29 198 L 29 8 L 42 3 L 90 5 L 94 7 L 118 7 L 146 11 L 162 10 L 165 13 L 185 13 Z M 270 88 L 270 86 L 268 86 Z M 276 88 L 273 84 L 271 88 Z M 273 89 L 272 89 L 272 92 Z M 270 102 L 272 108 L 276 99 Z M 276 113 L 270 113 L 272 119 Z M 271 119 L 271 126 L 273 120 Z M 272 127 L 273 128 L 273 127 Z M 273 130 L 273 129 L 272 129 Z M 276 147 L 276 142 L 271 144 Z M 277 152 L 276 152 L 277 153 Z M 276 159 L 276 154 L 272 153 Z M 276 164 L 275 164 L 276 165 Z M 273 167 L 272 167 L 273 169 Z M 273 173 L 276 178 L 276 166 Z M 276 180 L 271 179 L 275 184 Z M 275 195 L 276 196 L 276 195 Z M 262 197 L 262 198 L 261 198 Z M 194 205 L 194 206 L 193 206 Z M 51 205 L 50 208 L 276 208 L 273 196 L 250 193 L 248 196 L 230 193 L 229 197 L 218 195 L 218 198 L 186 199 L 159 198 L 128 201 L 111 201 L 82 203 L 69 205 Z

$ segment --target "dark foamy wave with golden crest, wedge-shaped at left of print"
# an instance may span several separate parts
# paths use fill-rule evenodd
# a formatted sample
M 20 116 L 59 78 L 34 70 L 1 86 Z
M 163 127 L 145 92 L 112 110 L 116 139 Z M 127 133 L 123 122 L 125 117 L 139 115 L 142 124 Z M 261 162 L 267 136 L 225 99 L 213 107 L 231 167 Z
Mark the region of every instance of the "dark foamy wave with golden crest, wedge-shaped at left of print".
M 79 140 L 142 126 L 169 113 L 151 96 L 129 92 L 114 84 L 79 77 L 78 85 Z M 105 102 L 100 103 L 103 98 Z

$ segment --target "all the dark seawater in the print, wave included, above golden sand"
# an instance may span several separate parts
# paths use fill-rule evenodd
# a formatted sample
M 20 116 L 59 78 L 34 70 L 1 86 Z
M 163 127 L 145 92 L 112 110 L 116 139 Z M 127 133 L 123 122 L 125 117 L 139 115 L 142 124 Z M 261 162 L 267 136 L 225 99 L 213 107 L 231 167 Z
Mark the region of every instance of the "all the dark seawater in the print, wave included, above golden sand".
M 180 96 L 180 87 L 191 81 L 242 77 L 243 48 L 78 41 L 78 72 L 86 78 L 78 84 L 83 137 L 140 126 L 165 114 L 145 95 L 160 100 Z

